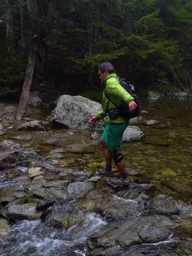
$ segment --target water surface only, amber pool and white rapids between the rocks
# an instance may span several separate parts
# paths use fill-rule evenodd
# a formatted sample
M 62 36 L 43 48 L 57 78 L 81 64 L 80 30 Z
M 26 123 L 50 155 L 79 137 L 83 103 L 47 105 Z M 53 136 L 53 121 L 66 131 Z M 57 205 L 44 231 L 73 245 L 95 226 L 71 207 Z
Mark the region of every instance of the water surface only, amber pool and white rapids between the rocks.
M 179 202 L 187 206 L 191 202 L 191 181 L 192 181 L 192 103 L 191 99 L 169 99 L 164 97 L 157 102 L 143 104 L 147 120 L 158 120 L 154 125 L 140 124 L 145 137 L 140 141 L 124 143 L 124 156 L 127 167 L 134 169 L 138 175 L 132 175 L 130 179 L 135 182 L 150 183 L 155 185 L 155 195 L 172 195 Z M 44 137 L 63 132 L 61 129 L 49 132 L 28 132 L 32 134 L 29 143 L 19 141 L 24 147 L 33 147 L 39 154 L 46 156 L 50 150 L 56 148 L 50 145 L 42 145 Z M 65 131 L 66 132 L 66 131 Z M 93 131 L 79 131 L 79 136 L 84 141 L 89 141 Z M 13 131 L 10 129 L 1 136 L 1 140 L 10 139 L 17 134 L 26 132 Z M 67 159 L 67 160 L 66 160 Z M 65 154 L 65 166 L 86 170 L 93 166 L 93 170 L 100 169 L 103 163 L 102 150 L 99 145 L 92 154 Z M 93 164 L 94 163 L 94 164 Z M 22 172 L 25 172 L 23 169 Z M 0 173 L 0 189 L 21 186 L 19 180 L 8 181 L 4 172 Z M 118 198 L 116 196 L 116 198 Z M 125 199 L 123 199 L 125 201 Z M 131 200 L 129 200 L 131 201 Z M 134 200 L 132 200 L 134 204 Z M 73 201 L 70 204 L 75 204 Z M 70 208 L 65 202 L 58 202 L 52 209 L 52 214 Z M 72 207 L 76 209 L 76 207 Z M 82 219 L 81 232 L 76 233 L 76 223 L 70 228 L 55 228 L 46 219 L 35 221 L 19 221 L 12 223 L 8 240 L 0 241 L 0 254 L 2 256 L 52 256 L 52 255 L 86 255 L 86 239 L 95 230 L 106 225 L 99 214 L 88 212 L 82 216 L 81 211 L 77 211 L 77 219 Z M 81 225 L 81 221 L 79 222 Z M 73 234 L 73 235 L 72 235 Z M 182 234 L 181 234 L 182 236 Z M 184 234 L 186 236 L 186 234 Z M 71 239 L 73 237 L 73 239 Z M 74 239 L 74 237 L 76 237 Z M 153 244 L 134 245 L 121 256 L 143 253 L 143 255 L 192 255 L 191 240 L 186 238 L 180 244 L 173 237 L 166 241 Z

